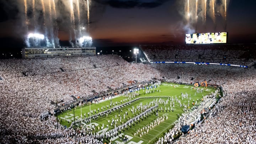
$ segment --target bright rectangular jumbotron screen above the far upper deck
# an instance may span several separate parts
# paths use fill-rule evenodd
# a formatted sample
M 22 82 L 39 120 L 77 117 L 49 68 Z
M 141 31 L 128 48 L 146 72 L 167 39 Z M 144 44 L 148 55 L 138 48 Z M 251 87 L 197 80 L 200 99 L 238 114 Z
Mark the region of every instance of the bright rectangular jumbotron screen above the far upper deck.
M 186 44 L 226 43 L 227 32 L 186 34 Z

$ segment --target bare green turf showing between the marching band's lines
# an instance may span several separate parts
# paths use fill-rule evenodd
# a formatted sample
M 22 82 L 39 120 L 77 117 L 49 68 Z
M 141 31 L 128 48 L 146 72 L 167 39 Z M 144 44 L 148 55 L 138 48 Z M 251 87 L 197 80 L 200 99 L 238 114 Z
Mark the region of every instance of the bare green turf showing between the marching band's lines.
M 174 85 L 176 85 L 176 87 L 174 88 Z M 173 96 L 175 99 L 175 96 L 177 96 L 177 98 L 180 99 L 181 103 L 185 103 L 185 105 L 188 105 L 188 100 L 190 101 L 190 108 L 192 107 L 192 102 L 197 101 L 197 105 L 200 104 L 201 102 L 201 98 L 202 95 L 205 96 L 207 94 L 210 94 L 212 91 L 214 91 L 214 89 L 212 87 L 208 87 L 207 89 L 205 89 L 202 93 L 197 93 L 196 90 L 191 89 L 191 87 L 193 86 L 188 86 L 188 85 L 178 85 L 178 84 L 171 84 L 171 83 L 162 83 L 160 85 L 160 87 L 157 88 L 153 88 L 151 91 L 151 93 L 145 94 L 145 90 L 143 92 L 143 90 L 139 91 L 139 96 L 137 97 L 148 97 L 148 96 Z M 202 88 L 202 87 L 200 87 Z M 155 92 L 153 92 L 153 90 Z M 188 94 L 188 98 L 183 98 L 181 97 L 181 92 L 183 94 L 187 93 Z M 190 96 L 191 95 L 191 96 Z M 121 100 L 124 101 L 124 99 L 128 99 L 128 97 L 126 96 L 116 96 L 112 98 L 112 102 L 114 103 L 120 103 L 121 105 Z M 156 98 L 155 98 L 156 99 Z M 159 98 L 158 98 L 159 99 Z M 167 98 L 162 98 L 165 101 L 167 100 Z M 131 103 L 129 106 L 123 107 L 122 108 L 122 112 L 120 111 L 120 115 L 122 117 L 121 119 L 121 123 L 118 121 L 117 126 L 121 125 L 122 122 L 126 122 L 128 121 L 130 118 L 133 118 L 135 116 L 137 116 L 137 114 L 141 113 L 141 111 L 136 111 L 134 114 L 132 114 L 132 112 L 130 112 L 128 109 L 132 108 L 132 106 L 134 106 L 136 108 L 136 106 L 140 105 L 142 103 L 142 105 L 145 105 L 146 103 L 149 104 L 149 102 L 153 101 L 154 98 L 148 98 L 148 99 L 140 99 L 138 101 L 135 101 L 133 103 Z M 127 100 L 128 101 L 128 100 Z M 104 107 L 106 107 L 107 110 L 107 105 L 110 105 L 111 102 L 111 98 L 110 99 L 106 99 L 103 102 L 100 103 L 96 103 L 96 104 L 91 104 L 91 110 L 93 111 L 93 114 L 95 114 L 94 110 L 96 109 L 96 112 L 98 113 L 98 108 L 100 108 L 100 112 L 101 112 L 101 107 L 103 107 L 103 111 L 105 110 Z M 148 124 L 150 124 L 151 122 L 153 122 L 155 119 L 157 119 L 157 116 L 153 113 L 151 114 L 151 116 L 148 116 L 148 118 L 144 119 L 143 121 L 138 122 L 138 124 L 135 123 L 135 125 L 132 125 L 132 128 L 128 127 L 128 130 L 125 129 L 125 131 L 122 131 L 122 135 L 128 135 L 129 136 L 129 140 L 127 143 L 132 144 L 132 143 L 142 143 L 142 144 L 149 144 L 149 143 L 154 143 L 156 140 L 158 140 L 160 137 L 164 136 L 164 133 L 169 132 L 169 129 L 171 129 L 174 125 L 174 122 L 177 120 L 178 118 L 178 114 L 182 114 L 183 113 L 183 108 L 184 107 L 180 107 L 180 105 L 178 103 L 175 102 L 175 107 L 173 107 L 174 112 L 172 111 L 165 111 L 165 107 L 168 110 L 168 107 L 170 107 L 170 99 L 169 102 L 167 103 L 167 105 L 164 104 L 159 104 L 159 108 L 162 107 L 162 109 L 164 110 L 164 112 L 159 112 L 159 117 L 165 115 L 165 117 L 167 116 L 168 119 L 165 120 L 164 122 L 160 123 L 159 125 L 157 125 L 154 129 L 149 130 L 148 133 L 144 134 L 142 138 L 140 138 L 140 135 L 135 135 L 134 137 L 134 133 L 136 133 L 138 128 L 142 128 L 147 126 Z M 116 105 L 115 105 L 116 106 Z M 109 107 L 110 108 L 110 107 Z M 89 105 L 84 105 L 82 106 L 82 108 L 80 107 L 76 107 L 75 108 L 75 117 L 76 118 L 80 118 L 81 116 L 81 111 L 82 111 L 82 117 L 84 118 L 84 113 L 86 113 L 86 117 L 88 116 L 88 112 L 90 112 L 90 106 Z M 125 116 L 125 119 L 123 119 L 123 115 L 126 113 L 126 111 L 128 112 L 128 116 Z M 111 114 L 108 114 L 108 117 L 104 116 L 104 117 L 98 117 L 98 119 L 96 120 L 91 120 L 92 124 L 95 124 L 96 128 L 95 128 L 95 133 L 96 132 L 102 132 L 101 131 L 101 126 L 102 124 L 104 124 L 104 128 L 103 131 L 108 131 L 110 129 L 114 128 L 114 124 L 113 126 L 110 126 L 110 124 L 108 124 L 108 120 L 110 120 L 110 123 L 113 119 L 119 119 L 118 117 L 119 111 L 115 111 L 112 112 Z M 115 115 L 117 115 L 117 118 L 115 117 Z M 65 111 L 62 114 L 58 115 L 59 119 L 61 119 L 61 124 L 64 126 L 69 127 L 72 119 L 74 118 L 73 115 L 73 109 L 70 111 Z M 64 119 L 65 118 L 65 119 Z M 68 123 L 68 120 L 71 121 Z M 90 123 L 87 123 L 90 124 Z M 107 129 L 107 124 L 108 124 L 108 129 Z M 82 125 L 81 125 L 82 127 Z M 81 128 L 80 127 L 80 128 Z M 98 130 L 98 127 L 100 127 L 100 130 Z M 120 134 L 120 133 L 119 133 Z M 112 143 L 123 143 L 121 139 L 119 139 L 118 137 L 114 137 L 111 139 Z M 104 140 L 104 143 L 109 143 L 109 139 L 108 140 Z

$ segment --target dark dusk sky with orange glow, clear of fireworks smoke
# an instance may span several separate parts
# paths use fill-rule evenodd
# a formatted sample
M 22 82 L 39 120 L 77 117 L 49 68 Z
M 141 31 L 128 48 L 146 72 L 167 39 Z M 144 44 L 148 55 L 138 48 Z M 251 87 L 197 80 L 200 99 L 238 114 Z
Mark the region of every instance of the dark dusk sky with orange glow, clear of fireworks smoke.
M 21 10 L 14 1 L 0 1 L 2 49 L 25 46 L 23 38 L 26 32 Z M 180 14 L 182 9 L 180 2 L 178 0 L 92 0 L 90 36 L 96 47 L 185 44 L 187 31 L 184 29 L 184 18 Z M 62 25 L 62 22 L 58 20 L 59 25 Z M 199 21 L 192 28 L 198 33 L 226 31 L 229 33 L 228 43 L 255 43 L 256 1 L 230 0 L 226 26 L 223 17 L 216 16 L 214 25 L 213 20 L 207 16 L 206 25 Z M 68 41 L 69 27 L 60 26 L 58 37 L 61 42 Z

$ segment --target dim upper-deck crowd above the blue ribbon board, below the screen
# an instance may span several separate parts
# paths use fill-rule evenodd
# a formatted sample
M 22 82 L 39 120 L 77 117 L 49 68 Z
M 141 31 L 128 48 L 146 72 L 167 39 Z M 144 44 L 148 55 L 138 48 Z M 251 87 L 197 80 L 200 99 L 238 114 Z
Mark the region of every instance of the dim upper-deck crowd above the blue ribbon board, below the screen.
M 256 60 L 256 45 L 141 46 L 149 61 L 211 62 L 250 65 Z

